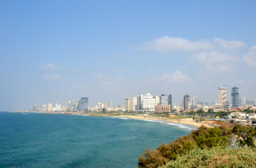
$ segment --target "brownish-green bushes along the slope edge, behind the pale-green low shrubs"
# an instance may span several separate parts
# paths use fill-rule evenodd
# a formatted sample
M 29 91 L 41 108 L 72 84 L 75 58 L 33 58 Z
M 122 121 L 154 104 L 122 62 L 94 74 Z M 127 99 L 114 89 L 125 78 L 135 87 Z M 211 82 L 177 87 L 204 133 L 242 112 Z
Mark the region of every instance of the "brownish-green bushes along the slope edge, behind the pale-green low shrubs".
M 162 143 L 156 150 L 146 149 L 138 158 L 138 167 L 159 167 L 168 161 L 176 160 L 178 156 L 189 153 L 193 148 L 211 148 L 217 145 L 227 145 L 227 132 L 217 127 L 199 127 L 190 135 L 179 137 L 166 145 Z

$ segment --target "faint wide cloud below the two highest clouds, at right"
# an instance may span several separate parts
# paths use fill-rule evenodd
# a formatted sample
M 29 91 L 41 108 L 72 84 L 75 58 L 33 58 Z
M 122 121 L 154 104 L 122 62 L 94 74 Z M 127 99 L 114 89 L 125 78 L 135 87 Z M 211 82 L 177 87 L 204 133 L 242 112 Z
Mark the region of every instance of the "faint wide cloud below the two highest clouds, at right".
M 196 60 L 202 64 L 213 64 L 213 63 L 223 63 L 225 61 L 238 61 L 239 57 L 229 55 L 222 52 L 199 52 L 195 55 L 189 57 L 190 60 Z

